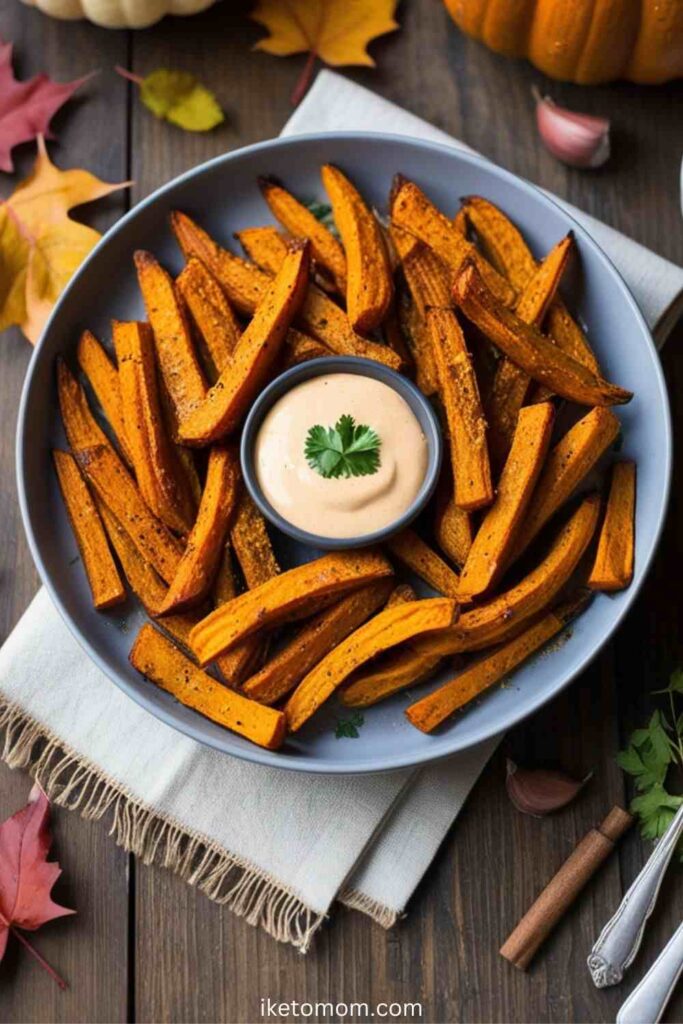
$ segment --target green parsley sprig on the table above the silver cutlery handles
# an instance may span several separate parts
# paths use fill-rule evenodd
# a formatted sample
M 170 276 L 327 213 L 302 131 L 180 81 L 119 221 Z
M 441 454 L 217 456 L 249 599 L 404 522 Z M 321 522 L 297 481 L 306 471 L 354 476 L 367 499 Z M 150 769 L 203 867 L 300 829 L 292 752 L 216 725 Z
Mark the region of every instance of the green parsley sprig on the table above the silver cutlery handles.
M 683 804 L 683 796 L 670 793 L 666 786 L 670 769 L 683 769 L 683 713 L 677 708 L 677 698 L 683 696 L 683 670 L 676 669 L 669 686 L 654 694 L 667 695 L 669 712 L 653 712 L 645 728 L 636 729 L 629 745 L 616 757 L 638 791 L 631 810 L 638 816 L 644 839 L 664 836 Z M 679 844 L 679 856 L 683 860 L 683 843 Z

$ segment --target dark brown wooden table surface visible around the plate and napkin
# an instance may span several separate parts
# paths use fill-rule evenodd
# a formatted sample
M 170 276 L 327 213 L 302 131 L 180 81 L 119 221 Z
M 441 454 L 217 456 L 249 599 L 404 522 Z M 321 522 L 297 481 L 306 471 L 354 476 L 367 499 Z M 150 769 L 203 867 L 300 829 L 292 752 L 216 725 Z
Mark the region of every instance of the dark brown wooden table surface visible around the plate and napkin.
M 17 74 L 47 71 L 66 80 L 100 74 L 55 119 L 57 164 L 100 177 L 133 178 L 86 208 L 106 228 L 153 188 L 201 161 L 279 133 L 303 58 L 254 53 L 259 30 L 248 5 L 220 3 L 188 19 L 144 32 L 59 23 L 18 0 L 0 4 L 0 35 L 15 44 Z M 462 37 L 436 0 L 401 4 L 401 30 L 373 46 L 378 69 L 350 77 L 464 139 L 510 170 L 565 197 L 658 253 L 683 263 L 680 190 L 683 82 L 661 88 L 618 84 L 583 90 L 547 83 L 524 63 L 487 53 Z M 205 135 L 155 120 L 115 75 L 160 66 L 200 76 L 219 96 L 226 121 Z M 539 144 L 530 85 L 567 105 L 613 121 L 613 157 L 599 171 L 567 169 Z M 381 127 L 381 126 L 380 126 Z M 33 160 L 18 151 L 16 179 Z M 7 194 L 14 179 L 3 175 Z M 454 197 L 455 201 L 456 197 Z M 681 325 L 664 355 L 675 423 L 683 422 Z M 13 434 L 30 346 L 8 332 L 0 344 L 0 636 L 33 596 L 38 578 L 16 502 Z M 655 452 L 651 458 L 656 458 Z M 78 916 L 45 927 L 37 944 L 69 980 L 60 992 L 10 940 L 0 967 L 0 1020 L 225 1021 L 260 1017 L 276 1000 L 420 1000 L 423 1020 L 608 1021 L 683 915 L 683 878 L 674 867 L 629 982 L 597 991 L 585 962 L 601 926 L 648 853 L 635 834 L 588 887 L 532 969 L 515 971 L 499 946 L 577 841 L 614 803 L 624 804 L 614 754 L 648 713 L 648 691 L 683 664 L 677 638 L 683 551 L 679 461 L 667 529 L 647 584 L 616 638 L 570 689 L 512 732 L 483 773 L 404 921 L 389 932 L 338 910 L 307 956 L 279 945 L 174 876 L 135 862 L 101 822 L 54 813 L 62 902 Z M 680 566 L 680 559 L 678 560 Z M 50 685 L 50 680 L 45 680 Z M 559 762 L 595 777 L 573 807 L 538 820 L 516 812 L 504 786 L 505 758 Z M 22 806 L 29 779 L 0 767 L 0 817 Z M 683 991 L 669 1020 L 683 1019 Z

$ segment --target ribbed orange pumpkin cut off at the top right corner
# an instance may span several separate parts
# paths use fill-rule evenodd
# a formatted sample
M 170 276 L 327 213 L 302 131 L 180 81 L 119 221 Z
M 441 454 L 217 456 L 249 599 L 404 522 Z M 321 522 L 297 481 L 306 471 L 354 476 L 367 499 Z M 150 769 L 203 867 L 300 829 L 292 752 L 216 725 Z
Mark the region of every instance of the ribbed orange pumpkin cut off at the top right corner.
M 444 0 L 456 25 L 551 78 L 594 85 L 683 76 L 683 0 Z

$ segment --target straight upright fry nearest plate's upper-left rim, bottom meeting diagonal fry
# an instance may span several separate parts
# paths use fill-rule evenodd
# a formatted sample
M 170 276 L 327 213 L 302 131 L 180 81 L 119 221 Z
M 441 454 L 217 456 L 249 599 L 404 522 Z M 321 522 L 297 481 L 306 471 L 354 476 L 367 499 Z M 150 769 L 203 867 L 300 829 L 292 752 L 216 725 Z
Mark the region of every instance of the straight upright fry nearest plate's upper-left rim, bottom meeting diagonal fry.
M 162 377 L 174 418 L 180 422 L 203 400 L 207 383 L 170 274 L 152 253 L 138 250 L 134 260 Z

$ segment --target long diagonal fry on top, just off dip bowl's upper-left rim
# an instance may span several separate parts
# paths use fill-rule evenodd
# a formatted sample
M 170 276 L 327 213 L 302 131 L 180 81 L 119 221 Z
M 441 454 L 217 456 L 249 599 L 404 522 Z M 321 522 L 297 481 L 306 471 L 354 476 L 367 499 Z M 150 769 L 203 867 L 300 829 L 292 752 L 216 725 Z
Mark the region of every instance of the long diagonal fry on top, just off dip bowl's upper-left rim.
M 234 430 L 264 383 L 308 283 L 308 244 L 294 244 L 269 284 L 232 358 L 204 400 L 180 421 L 190 444 L 207 444 Z

